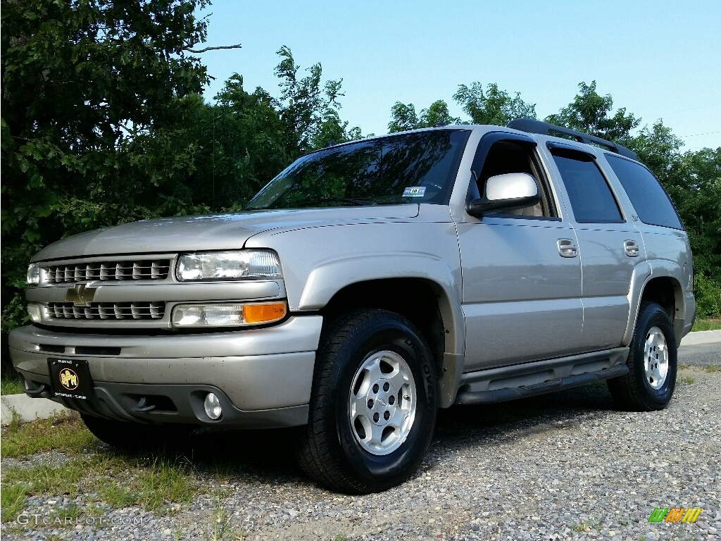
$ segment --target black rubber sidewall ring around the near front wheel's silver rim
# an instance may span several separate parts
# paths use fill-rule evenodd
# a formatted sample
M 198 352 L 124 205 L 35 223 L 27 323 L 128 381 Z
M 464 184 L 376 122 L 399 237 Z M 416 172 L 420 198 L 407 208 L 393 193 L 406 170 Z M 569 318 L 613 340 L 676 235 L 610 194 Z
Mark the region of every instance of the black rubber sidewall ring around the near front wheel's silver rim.
M 361 447 L 348 415 L 353 378 L 363 361 L 379 351 L 394 351 L 403 357 L 415 379 L 417 395 L 415 420 L 407 438 L 394 452 L 380 456 Z M 428 346 L 401 317 L 379 311 L 355 330 L 335 360 L 340 364 L 335 392 L 335 429 L 348 466 L 377 489 L 402 483 L 423 460 L 435 425 L 438 391 Z

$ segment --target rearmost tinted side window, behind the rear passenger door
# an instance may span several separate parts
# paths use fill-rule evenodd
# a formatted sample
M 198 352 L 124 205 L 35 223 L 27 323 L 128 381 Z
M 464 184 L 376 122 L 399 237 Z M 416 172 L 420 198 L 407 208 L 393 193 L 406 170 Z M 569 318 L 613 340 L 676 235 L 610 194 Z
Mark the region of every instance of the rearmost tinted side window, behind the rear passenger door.
M 606 159 L 644 224 L 684 229 L 673 203 L 649 170 L 641 164 L 611 154 L 606 154 Z

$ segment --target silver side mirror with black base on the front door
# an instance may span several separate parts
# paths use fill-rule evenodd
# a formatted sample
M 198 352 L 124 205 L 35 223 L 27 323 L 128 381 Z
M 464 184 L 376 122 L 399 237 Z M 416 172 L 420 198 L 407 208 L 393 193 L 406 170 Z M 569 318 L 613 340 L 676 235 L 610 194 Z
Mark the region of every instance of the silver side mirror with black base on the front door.
M 466 211 L 471 216 L 483 216 L 490 211 L 513 211 L 541 201 L 536 179 L 528 173 L 506 173 L 486 181 L 486 193 L 469 201 Z

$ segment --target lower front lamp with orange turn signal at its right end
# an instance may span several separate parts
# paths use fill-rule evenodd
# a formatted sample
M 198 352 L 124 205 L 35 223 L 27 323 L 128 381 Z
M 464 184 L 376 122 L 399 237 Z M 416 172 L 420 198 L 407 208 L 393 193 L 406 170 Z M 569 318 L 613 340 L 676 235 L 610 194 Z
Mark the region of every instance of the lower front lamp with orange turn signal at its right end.
M 286 303 L 178 304 L 173 309 L 173 327 L 241 327 L 280 321 Z

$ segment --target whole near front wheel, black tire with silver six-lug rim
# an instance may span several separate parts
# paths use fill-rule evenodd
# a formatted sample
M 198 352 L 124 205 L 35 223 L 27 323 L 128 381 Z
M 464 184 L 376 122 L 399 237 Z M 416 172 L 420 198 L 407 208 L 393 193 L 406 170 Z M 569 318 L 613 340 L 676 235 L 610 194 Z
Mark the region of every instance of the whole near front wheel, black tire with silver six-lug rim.
M 348 312 L 322 333 L 298 463 L 333 491 L 399 485 L 428 450 L 437 404 L 433 358 L 415 327 L 394 312 Z

